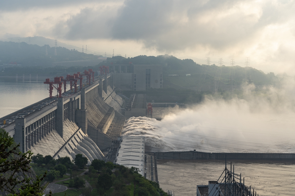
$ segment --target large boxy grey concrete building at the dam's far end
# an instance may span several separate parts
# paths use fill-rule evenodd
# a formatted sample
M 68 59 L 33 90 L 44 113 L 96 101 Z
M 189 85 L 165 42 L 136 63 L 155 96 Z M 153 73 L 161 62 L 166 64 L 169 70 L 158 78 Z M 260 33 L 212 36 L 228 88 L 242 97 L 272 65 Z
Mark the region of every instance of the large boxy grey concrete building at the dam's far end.
M 145 91 L 163 88 L 162 65 L 106 65 L 114 72 L 116 88 L 129 91 Z

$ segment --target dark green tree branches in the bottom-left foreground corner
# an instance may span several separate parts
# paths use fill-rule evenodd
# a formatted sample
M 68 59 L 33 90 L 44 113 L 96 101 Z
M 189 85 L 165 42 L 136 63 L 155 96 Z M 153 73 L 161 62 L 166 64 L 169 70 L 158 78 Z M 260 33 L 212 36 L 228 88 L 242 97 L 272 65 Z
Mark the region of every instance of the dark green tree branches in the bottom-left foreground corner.
M 33 153 L 28 151 L 23 154 L 18 147 L 13 138 L 0 129 L 0 193 L 41 196 L 40 182 L 45 175 L 42 178 L 37 176 L 36 180 L 28 177 L 27 174 L 32 172 L 29 163 Z

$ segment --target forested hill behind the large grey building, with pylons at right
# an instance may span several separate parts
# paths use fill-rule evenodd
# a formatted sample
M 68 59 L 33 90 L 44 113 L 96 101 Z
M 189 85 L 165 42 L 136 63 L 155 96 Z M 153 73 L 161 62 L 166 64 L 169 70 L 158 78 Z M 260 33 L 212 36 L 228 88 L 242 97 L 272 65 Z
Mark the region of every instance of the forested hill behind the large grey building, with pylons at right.
M 198 85 L 203 83 L 202 91 L 212 91 L 214 85 L 215 75 L 219 75 L 218 91 L 226 91 L 230 88 L 230 74 L 233 74 L 234 88 L 240 89 L 241 85 L 253 83 L 257 87 L 264 85 L 279 85 L 280 78 L 276 77 L 274 73 L 263 73 L 252 67 L 241 66 L 216 66 L 216 65 L 199 65 L 191 59 L 178 59 L 174 56 L 160 55 L 160 56 L 146 56 L 140 55 L 134 58 L 124 58 L 122 56 L 115 56 L 107 58 L 106 61 L 99 65 L 129 64 L 134 65 L 163 65 L 163 87 L 184 88 L 198 90 Z M 218 73 L 218 74 L 216 74 Z M 219 74 L 220 73 L 220 74 Z M 191 74 L 191 76 L 186 76 Z M 178 76 L 168 76 L 178 75 Z

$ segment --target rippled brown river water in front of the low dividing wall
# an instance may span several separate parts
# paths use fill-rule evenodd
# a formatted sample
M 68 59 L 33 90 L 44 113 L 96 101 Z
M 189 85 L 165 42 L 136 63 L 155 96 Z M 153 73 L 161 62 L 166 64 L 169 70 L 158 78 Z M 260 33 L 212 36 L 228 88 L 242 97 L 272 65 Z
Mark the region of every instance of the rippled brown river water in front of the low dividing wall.
M 228 162 L 229 163 L 229 162 Z M 245 185 L 262 195 L 295 195 L 295 164 L 233 162 L 235 173 L 242 173 Z M 230 166 L 228 165 L 228 168 Z M 224 162 L 199 160 L 157 160 L 158 180 L 163 190 L 175 196 L 195 196 L 197 185 L 216 181 Z

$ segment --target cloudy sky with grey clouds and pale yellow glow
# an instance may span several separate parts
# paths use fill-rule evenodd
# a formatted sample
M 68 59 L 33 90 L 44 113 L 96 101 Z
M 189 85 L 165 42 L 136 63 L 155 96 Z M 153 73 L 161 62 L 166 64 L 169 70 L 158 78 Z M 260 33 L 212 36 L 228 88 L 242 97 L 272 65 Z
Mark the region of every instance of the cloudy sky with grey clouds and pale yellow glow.
M 295 2 L 276 0 L 0 1 L 0 38 L 43 36 L 112 55 L 173 55 L 196 63 L 295 75 Z M 12 35 L 10 35 L 12 36 Z M 77 49 L 77 48 L 76 48 Z

